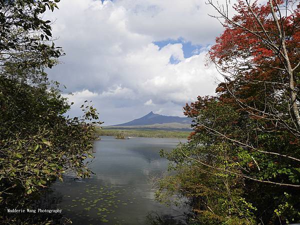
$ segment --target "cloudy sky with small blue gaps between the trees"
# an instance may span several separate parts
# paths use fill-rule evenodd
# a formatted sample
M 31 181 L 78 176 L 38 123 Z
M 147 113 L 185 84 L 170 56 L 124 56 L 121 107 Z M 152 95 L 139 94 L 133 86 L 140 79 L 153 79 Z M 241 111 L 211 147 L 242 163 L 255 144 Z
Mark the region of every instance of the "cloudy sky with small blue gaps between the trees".
M 198 95 L 213 95 L 219 76 L 205 66 L 223 27 L 204 0 L 61 0 L 47 12 L 65 56 L 48 70 L 74 102 L 91 100 L 103 125 L 150 111 L 183 117 Z M 72 92 L 72 95 L 68 93 Z

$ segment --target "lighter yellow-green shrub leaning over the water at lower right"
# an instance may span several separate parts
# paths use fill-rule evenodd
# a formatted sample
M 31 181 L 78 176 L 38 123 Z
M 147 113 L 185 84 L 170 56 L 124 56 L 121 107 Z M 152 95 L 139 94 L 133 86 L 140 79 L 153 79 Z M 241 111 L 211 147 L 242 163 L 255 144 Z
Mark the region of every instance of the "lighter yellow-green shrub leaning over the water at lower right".
M 214 149 L 220 152 L 213 159 L 214 165 L 223 169 L 234 167 L 228 160 L 228 146 L 205 147 L 195 139 L 179 144 L 170 153 L 161 152 L 170 161 L 169 169 L 176 173 L 159 180 L 155 197 L 167 204 L 185 200 L 190 207 L 188 224 L 250 224 L 256 208 L 241 197 L 242 178 L 194 160 L 211 160 L 208 152 Z M 178 198 L 174 201 L 175 194 Z

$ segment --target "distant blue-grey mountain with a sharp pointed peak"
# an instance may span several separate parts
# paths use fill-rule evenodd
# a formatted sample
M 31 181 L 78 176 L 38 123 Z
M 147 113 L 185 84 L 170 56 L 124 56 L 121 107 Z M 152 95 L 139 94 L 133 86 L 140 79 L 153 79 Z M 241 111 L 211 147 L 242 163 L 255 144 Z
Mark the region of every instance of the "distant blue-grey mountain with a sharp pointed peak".
M 165 124 L 165 123 L 179 123 L 179 124 L 191 124 L 191 119 L 189 117 L 179 117 L 179 116 L 167 116 L 167 115 L 159 115 L 155 114 L 152 111 L 148 114 L 133 119 L 132 121 L 116 124 L 113 126 L 144 126 L 144 125 L 152 125 L 152 124 Z

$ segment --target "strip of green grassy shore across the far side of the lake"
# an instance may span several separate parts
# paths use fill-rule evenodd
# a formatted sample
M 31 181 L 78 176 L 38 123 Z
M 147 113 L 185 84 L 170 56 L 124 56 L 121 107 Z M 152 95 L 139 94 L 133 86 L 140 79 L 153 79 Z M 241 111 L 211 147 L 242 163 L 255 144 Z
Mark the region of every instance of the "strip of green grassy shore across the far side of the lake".
M 166 137 L 187 138 L 189 131 L 166 131 L 166 130 L 140 130 L 140 129 L 100 129 L 96 132 L 100 136 L 119 136 L 120 134 L 130 137 Z

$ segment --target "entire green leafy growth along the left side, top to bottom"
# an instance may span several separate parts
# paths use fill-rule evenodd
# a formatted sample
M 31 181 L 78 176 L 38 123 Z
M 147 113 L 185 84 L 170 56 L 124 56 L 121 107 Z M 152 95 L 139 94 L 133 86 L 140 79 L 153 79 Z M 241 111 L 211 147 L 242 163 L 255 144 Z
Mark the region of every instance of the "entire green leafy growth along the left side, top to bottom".
M 46 67 L 62 53 L 50 41 L 50 21 L 41 17 L 59 0 L 0 0 L 0 210 L 26 208 L 56 178 L 72 172 L 88 177 L 96 109 L 83 104 L 83 116 L 70 108 L 49 82 Z M 88 122 L 87 122 L 88 121 Z M 46 189 L 46 188 L 45 188 Z M 38 216 L 36 216 L 38 217 Z M 44 220 L 43 220 L 44 219 Z M 46 223 L 49 218 L 33 223 Z M 50 219 L 51 220 L 51 219 Z M 22 214 L 0 213 L 0 223 L 32 223 Z

